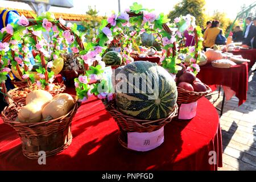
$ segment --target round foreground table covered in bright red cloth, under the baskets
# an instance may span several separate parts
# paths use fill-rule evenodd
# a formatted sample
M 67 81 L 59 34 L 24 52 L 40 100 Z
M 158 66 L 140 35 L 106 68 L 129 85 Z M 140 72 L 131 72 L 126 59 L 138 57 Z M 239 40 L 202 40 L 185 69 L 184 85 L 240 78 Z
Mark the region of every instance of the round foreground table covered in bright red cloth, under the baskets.
M 217 170 L 222 166 L 221 129 L 216 109 L 198 102 L 191 121 L 164 127 L 164 143 L 155 150 L 135 152 L 118 143 L 118 126 L 100 100 L 81 105 L 72 121 L 71 146 L 46 158 L 46 165 L 22 154 L 18 135 L 0 121 L 0 170 Z M 216 164 L 209 158 L 216 152 Z M 214 153 L 215 154 L 215 153 Z

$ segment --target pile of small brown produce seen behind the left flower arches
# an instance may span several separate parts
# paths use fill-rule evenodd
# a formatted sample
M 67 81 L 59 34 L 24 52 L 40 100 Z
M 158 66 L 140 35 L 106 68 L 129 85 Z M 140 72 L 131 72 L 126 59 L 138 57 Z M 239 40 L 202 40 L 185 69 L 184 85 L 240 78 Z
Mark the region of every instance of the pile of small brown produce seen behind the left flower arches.
M 73 53 L 69 54 L 63 54 L 61 55 L 64 59 L 64 71 L 79 71 L 82 69 L 82 65 L 79 63 L 79 60 L 77 59 L 77 55 L 74 55 Z

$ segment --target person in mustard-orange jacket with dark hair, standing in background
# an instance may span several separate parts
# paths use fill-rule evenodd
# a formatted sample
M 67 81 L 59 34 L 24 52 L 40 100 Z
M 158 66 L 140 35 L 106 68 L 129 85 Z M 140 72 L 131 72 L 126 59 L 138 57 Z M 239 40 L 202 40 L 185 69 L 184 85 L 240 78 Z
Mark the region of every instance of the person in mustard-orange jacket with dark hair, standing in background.
M 206 51 L 207 48 L 212 47 L 215 44 L 216 38 L 218 34 L 220 34 L 221 28 L 220 22 L 217 20 L 212 21 L 212 26 L 210 28 L 207 28 L 204 32 L 204 51 Z

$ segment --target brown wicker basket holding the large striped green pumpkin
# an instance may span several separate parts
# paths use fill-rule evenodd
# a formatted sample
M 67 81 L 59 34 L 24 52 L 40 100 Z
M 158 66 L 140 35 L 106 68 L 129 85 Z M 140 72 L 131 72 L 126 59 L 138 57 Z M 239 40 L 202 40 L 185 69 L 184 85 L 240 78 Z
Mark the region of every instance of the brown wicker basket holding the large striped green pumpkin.
M 102 100 L 103 101 L 103 100 Z M 151 133 L 161 129 L 164 125 L 171 122 L 172 118 L 177 115 L 177 105 L 170 115 L 166 118 L 152 120 L 142 120 L 131 117 L 129 115 L 122 114 L 118 111 L 115 100 L 108 102 L 107 100 L 103 101 L 106 110 L 112 115 L 115 122 L 119 126 L 120 132 L 118 137 L 118 142 L 125 148 L 127 147 L 127 133 L 128 132 L 138 132 L 138 133 Z M 128 148 L 131 150 L 130 148 Z

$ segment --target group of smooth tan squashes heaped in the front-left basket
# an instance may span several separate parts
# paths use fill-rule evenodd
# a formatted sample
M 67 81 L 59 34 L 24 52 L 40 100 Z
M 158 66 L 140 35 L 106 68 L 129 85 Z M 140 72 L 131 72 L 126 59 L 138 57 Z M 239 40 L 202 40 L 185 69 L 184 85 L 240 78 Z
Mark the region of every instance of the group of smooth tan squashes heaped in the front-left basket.
M 45 90 L 34 90 L 27 95 L 26 105 L 18 111 L 18 121 L 35 123 L 59 118 L 69 112 L 75 102 L 67 93 L 52 95 Z

